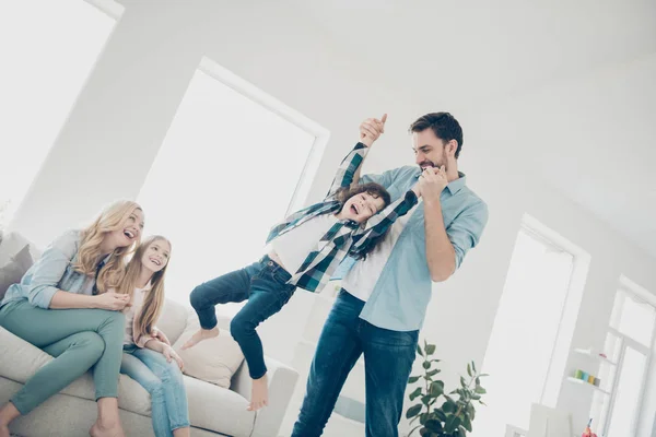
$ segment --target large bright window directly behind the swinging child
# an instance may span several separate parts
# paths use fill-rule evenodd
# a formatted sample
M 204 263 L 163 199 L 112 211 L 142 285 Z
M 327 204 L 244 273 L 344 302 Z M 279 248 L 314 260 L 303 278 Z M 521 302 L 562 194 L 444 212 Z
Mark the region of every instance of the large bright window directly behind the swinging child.
M 173 244 L 169 297 L 187 302 L 195 285 L 263 255 L 270 227 L 305 201 L 326 138 L 280 102 L 202 61 L 138 199 L 145 234 Z

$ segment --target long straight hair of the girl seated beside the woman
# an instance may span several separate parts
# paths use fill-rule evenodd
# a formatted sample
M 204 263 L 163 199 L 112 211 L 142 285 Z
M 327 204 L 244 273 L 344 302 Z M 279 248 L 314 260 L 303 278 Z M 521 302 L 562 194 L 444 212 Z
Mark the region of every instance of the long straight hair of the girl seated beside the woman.
M 161 235 L 152 235 L 143 240 L 143 243 L 137 247 L 137 251 L 132 259 L 130 259 L 130 262 L 128 262 L 126 274 L 118 287 L 118 293 L 132 296 L 134 288 L 138 286 L 141 269 L 143 269 L 141 263 L 143 253 L 145 253 L 148 248 L 155 241 L 166 241 L 171 247 L 171 241 Z M 134 332 L 134 336 L 150 335 L 155 322 L 162 314 L 162 308 L 164 307 L 164 276 L 169 261 L 171 257 L 166 261 L 164 268 L 159 272 L 153 273 L 153 276 L 151 277 L 151 290 L 143 299 L 143 306 L 140 314 L 136 316 L 137 332 Z

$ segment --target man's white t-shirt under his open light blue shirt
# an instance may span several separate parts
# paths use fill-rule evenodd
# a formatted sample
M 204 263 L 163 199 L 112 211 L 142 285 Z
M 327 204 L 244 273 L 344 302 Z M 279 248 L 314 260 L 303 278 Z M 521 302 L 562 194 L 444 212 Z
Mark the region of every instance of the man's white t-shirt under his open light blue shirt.
M 421 202 L 421 198 L 419 199 L 419 202 Z M 374 250 L 366 256 L 366 260 L 358 261 L 345 274 L 342 280 L 342 287 L 349 292 L 349 294 L 364 302 L 370 298 L 376 286 L 376 282 L 378 281 L 378 277 L 380 277 L 383 269 L 391 255 L 394 245 L 396 245 L 399 239 L 410 216 L 417 211 L 419 202 L 408 211 L 406 215 L 398 218 L 391 225 L 387 237 L 382 241 L 378 241 Z

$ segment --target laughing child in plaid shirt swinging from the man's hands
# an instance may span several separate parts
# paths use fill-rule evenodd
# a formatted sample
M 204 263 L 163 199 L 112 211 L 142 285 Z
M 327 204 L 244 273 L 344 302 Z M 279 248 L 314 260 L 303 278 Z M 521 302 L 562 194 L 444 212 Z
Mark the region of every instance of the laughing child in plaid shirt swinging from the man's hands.
M 249 410 L 268 403 L 267 367 L 256 327 L 278 312 L 296 286 L 318 292 L 347 255 L 366 257 L 390 225 L 418 201 L 412 190 L 389 204 L 389 193 L 380 185 L 351 187 L 367 151 L 366 145 L 358 143 L 342 162 L 324 202 L 292 214 L 271 229 L 267 239 L 270 250 L 259 262 L 191 292 L 191 306 L 201 329 L 183 349 L 219 335 L 216 304 L 248 299 L 232 320 L 231 333 L 244 352 L 253 378 Z

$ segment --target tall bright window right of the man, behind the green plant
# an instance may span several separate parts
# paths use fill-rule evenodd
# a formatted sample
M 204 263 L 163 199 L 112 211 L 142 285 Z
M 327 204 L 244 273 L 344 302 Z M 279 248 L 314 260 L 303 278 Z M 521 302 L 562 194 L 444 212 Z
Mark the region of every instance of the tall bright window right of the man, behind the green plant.
M 587 273 L 587 255 L 526 216 L 483 361 L 483 435 L 527 429 L 532 403 L 555 406 Z

